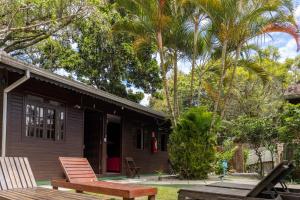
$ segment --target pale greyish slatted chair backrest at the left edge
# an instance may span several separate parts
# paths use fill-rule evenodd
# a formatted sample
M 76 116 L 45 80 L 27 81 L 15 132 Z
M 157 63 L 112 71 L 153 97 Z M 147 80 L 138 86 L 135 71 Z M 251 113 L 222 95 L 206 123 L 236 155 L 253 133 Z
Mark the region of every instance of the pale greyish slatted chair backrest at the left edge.
M 0 157 L 0 190 L 37 187 L 28 159 Z

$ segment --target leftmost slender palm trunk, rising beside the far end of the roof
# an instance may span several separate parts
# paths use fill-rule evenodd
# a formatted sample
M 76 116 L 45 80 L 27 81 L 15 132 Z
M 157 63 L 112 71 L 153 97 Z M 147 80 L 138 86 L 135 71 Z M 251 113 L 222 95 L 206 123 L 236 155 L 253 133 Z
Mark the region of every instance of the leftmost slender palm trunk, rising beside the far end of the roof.
M 172 108 L 171 101 L 170 101 L 169 84 L 168 84 L 168 80 L 167 80 L 167 72 L 166 72 L 165 65 L 164 65 L 163 40 L 162 40 L 161 31 L 157 32 L 157 45 L 158 45 L 158 49 L 159 49 L 161 77 L 162 77 L 163 87 L 164 87 L 164 91 L 165 91 L 165 95 L 166 95 L 168 110 L 171 115 L 172 124 L 173 124 L 173 126 L 176 126 L 176 124 L 177 124 L 176 117 L 174 115 L 174 110 Z

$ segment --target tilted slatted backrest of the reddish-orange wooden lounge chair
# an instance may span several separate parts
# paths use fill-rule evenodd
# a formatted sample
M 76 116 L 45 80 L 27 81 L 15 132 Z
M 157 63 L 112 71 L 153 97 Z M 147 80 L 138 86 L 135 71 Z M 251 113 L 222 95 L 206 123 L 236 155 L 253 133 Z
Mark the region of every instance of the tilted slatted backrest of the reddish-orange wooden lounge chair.
M 86 158 L 59 157 L 59 161 L 69 182 L 97 181 L 97 176 Z

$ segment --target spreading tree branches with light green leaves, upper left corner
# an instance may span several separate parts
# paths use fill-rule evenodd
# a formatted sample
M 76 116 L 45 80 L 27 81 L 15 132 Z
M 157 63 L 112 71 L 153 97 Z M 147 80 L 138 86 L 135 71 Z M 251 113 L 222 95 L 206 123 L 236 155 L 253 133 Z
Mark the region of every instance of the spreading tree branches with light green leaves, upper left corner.
M 90 12 L 97 0 L 1 0 L 0 48 L 6 52 L 32 46 Z

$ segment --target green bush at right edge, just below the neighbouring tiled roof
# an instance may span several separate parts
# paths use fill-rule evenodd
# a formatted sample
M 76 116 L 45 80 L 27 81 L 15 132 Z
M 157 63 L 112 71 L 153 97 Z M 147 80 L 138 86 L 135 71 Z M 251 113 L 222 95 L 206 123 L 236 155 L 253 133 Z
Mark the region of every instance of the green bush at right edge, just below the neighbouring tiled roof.
M 285 105 L 281 114 L 280 139 L 285 143 L 299 143 L 300 104 Z

